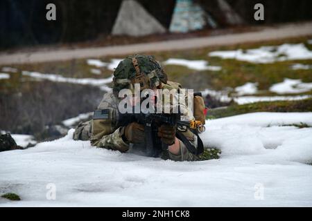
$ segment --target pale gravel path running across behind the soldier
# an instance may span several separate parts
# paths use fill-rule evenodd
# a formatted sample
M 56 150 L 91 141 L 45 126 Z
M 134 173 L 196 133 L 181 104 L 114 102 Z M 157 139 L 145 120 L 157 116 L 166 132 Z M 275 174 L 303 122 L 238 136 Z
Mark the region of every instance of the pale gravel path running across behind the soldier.
M 0 53 L 0 65 L 24 64 L 33 62 L 59 61 L 68 59 L 83 59 L 87 57 L 101 57 L 109 55 L 128 55 L 139 52 L 156 52 L 164 50 L 185 50 L 218 45 L 232 45 L 244 42 L 268 41 L 288 37 L 312 35 L 312 21 L 293 23 L 275 27 L 266 27 L 255 32 L 219 35 L 211 37 L 197 37 L 171 41 L 157 41 L 144 44 L 130 44 L 125 46 L 107 46 L 98 48 L 78 48 L 60 50 L 38 50 L 35 52 Z

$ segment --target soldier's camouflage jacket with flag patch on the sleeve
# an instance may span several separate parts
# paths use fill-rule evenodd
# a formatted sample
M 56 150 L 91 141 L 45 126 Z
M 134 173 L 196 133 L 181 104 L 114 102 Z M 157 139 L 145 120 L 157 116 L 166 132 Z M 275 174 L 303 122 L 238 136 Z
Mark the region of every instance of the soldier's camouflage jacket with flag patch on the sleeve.
M 166 88 L 171 88 L 173 83 L 168 81 L 165 85 Z M 123 141 L 121 138 L 121 127 L 117 127 L 118 118 L 118 105 L 119 98 L 113 93 L 105 93 L 101 103 L 96 108 L 96 111 L 105 111 L 107 114 L 106 119 L 92 119 L 89 122 L 80 123 L 76 127 L 76 131 L 73 135 L 74 140 L 90 140 L 92 146 L 100 148 L 107 148 L 116 151 L 126 152 L 130 148 L 130 144 Z M 191 111 L 188 112 L 188 118 L 193 119 Z M 197 145 L 196 135 L 191 131 L 183 132 L 184 135 L 191 141 L 193 146 Z M 132 144 L 133 148 L 136 148 L 135 144 Z M 175 161 L 193 161 L 198 160 L 196 155 L 189 153 L 187 147 L 180 141 L 180 153 L 174 155 L 173 153 L 166 151 L 162 154 L 162 158 L 171 159 Z

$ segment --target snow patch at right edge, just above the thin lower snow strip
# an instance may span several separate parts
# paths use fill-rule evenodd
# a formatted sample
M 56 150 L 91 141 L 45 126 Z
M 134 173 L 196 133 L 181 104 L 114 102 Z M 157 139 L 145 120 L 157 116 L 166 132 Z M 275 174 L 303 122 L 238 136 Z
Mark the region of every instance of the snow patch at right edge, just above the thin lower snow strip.
M 270 91 L 278 94 L 304 93 L 312 90 L 312 83 L 302 83 L 301 79 L 284 78 L 281 83 L 273 84 Z

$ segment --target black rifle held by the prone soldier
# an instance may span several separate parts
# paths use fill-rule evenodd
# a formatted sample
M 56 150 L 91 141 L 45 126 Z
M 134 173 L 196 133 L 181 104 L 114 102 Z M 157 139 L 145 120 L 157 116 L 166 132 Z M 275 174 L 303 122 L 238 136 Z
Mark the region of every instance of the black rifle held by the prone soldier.
M 198 136 L 198 131 L 201 130 L 202 123 L 200 121 L 192 120 L 181 121 L 181 113 L 119 113 L 118 126 L 127 126 L 131 122 L 137 122 L 144 125 L 145 143 L 146 143 L 146 155 L 148 157 L 159 157 L 159 154 L 168 149 L 168 145 L 162 143 L 160 137 L 157 136 L 158 128 L 162 124 L 168 124 L 175 126 L 177 139 L 181 140 L 187 149 L 195 154 L 199 155 L 204 151 L 202 140 Z M 187 128 L 197 136 L 198 146 L 195 148 L 191 142 L 185 137 L 185 135 L 178 128 Z

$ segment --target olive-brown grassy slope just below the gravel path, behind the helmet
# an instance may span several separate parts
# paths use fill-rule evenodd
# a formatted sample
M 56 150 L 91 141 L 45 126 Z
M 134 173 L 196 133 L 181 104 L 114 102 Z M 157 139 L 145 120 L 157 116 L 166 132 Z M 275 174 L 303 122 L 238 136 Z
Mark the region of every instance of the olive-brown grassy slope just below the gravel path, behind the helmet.
M 243 50 L 249 48 L 259 48 L 260 46 L 278 46 L 285 43 L 297 44 L 304 43 L 306 47 L 312 50 L 312 46 L 306 41 L 312 36 L 295 37 L 290 39 L 280 39 L 276 41 L 261 41 L 257 43 L 236 44 L 233 46 L 212 46 L 208 48 L 196 48 L 192 50 L 177 50 L 165 52 L 146 52 L 146 55 L 154 55 L 159 61 L 165 61 L 168 58 L 183 58 L 183 59 L 202 59 L 209 62 L 210 65 L 222 66 L 220 71 L 211 70 L 191 70 L 184 66 L 168 65 L 164 69 L 168 75 L 168 79 L 179 81 L 182 86 L 186 88 L 193 88 L 194 90 L 202 90 L 205 88 L 212 88 L 215 90 L 222 90 L 226 87 L 235 88 L 241 86 L 248 81 L 258 82 L 259 90 L 268 90 L 268 88 L 275 83 L 283 81 L 285 77 L 293 79 L 302 79 L 304 82 L 311 82 L 311 70 L 292 70 L 290 66 L 295 63 L 312 64 L 312 60 L 296 60 L 296 61 L 281 61 L 273 64 L 252 64 L 245 61 L 236 61 L 235 59 L 220 59 L 219 57 L 209 57 L 208 53 L 214 50 L 236 50 L 241 48 Z M 124 56 L 118 56 L 120 58 Z M 99 57 L 102 61 L 109 62 L 110 59 L 116 56 Z M 103 78 L 109 77 L 112 70 L 107 68 L 101 69 L 101 75 L 94 75 L 91 69 L 94 66 L 87 64 L 87 59 L 73 59 L 70 61 L 53 61 L 36 64 L 21 64 L 10 65 L 13 68 L 29 71 L 37 71 L 40 73 L 53 73 L 63 75 L 65 77 L 92 77 Z M 2 67 L 0 67 L 2 68 Z M 15 75 L 15 77 L 12 77 Z M 12 73 L 11 78 L 2 80 L 6 85 L 1 88 L 18 88 L 19 81 L 31 79 L 30 77 L 22 77 L 21 73 Z M 1 90 L 0 88 L 0 90 Z

